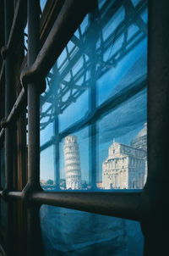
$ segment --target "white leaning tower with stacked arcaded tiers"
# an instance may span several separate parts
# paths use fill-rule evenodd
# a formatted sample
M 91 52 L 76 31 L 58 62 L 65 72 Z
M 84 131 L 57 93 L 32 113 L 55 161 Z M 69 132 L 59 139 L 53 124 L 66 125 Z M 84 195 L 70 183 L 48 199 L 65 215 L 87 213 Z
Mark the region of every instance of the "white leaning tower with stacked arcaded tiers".
M 76 136 L 66 136 L 64 143 L 64 166 L 66 188 L 81 188 L 81 170 L 79 162 L 79 144 Z

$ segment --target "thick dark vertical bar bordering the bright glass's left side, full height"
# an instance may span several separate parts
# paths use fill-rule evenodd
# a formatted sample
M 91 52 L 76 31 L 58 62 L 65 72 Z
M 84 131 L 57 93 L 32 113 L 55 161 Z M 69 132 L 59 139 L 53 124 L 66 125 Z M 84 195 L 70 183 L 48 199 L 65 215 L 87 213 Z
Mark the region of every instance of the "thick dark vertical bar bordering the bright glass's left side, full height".
M 39 1 L 28 0 L 28 66 L 40 49 Z M 40 189 L 40 85 L 28 84 L 28 187 Z M 27 202 L 28 203 L 28 202 Z M 39 205 L 27 205 L 27 255 L 42 255 Z

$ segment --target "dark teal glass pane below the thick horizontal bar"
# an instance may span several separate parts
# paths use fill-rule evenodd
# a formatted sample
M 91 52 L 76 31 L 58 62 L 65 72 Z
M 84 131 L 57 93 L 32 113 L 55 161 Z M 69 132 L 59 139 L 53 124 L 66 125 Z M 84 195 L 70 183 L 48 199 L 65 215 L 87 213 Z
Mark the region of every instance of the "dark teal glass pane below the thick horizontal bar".
M 42 205 L 45 255 L 142 256 L 139 223 L 100 214 Z

